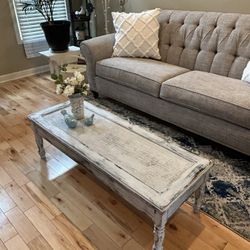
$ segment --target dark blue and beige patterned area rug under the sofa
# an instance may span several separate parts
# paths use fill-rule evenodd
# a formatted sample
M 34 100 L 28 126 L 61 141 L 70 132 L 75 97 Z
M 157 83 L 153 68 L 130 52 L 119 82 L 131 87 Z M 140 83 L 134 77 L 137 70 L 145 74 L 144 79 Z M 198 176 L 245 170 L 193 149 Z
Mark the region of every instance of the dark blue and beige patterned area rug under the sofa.
M 89 102 L 214 162 L 202 210 L 250 240 L 250 157 L 110 99 Z M 192 198 L 189 200 L 192 203 Z

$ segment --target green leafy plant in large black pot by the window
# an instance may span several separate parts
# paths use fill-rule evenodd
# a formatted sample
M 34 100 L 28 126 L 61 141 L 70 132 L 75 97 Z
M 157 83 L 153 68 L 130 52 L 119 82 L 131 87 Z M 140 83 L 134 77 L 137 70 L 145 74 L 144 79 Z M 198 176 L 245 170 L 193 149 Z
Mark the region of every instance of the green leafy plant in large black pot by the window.
M 54 8 L 57 0 L 27 0 L 22 1 L 23 11 L 38 11 L 45 19 L 41 27 L 49 47 L 53 52 L 68 50 L 70 42 L 70 22 L 68 20 L 54 20 Z

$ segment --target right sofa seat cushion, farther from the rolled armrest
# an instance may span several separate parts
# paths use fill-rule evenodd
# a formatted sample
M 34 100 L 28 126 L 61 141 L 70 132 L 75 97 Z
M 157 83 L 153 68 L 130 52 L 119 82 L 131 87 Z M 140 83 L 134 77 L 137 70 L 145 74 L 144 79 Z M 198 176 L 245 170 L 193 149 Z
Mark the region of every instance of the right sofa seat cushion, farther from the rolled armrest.
M 250 129 L 250 84 L 192 71 L 165 81 L 160 97 Z

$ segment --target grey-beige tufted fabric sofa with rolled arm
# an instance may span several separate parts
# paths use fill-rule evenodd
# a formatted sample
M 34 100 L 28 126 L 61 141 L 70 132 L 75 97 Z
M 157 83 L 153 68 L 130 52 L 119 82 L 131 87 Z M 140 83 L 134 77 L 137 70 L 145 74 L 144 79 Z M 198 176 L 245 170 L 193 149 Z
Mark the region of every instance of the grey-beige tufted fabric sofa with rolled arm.
M 250 155 L 250 15 L 164 10 L 161 61 L 112 58 L 114 35 L 81 44 L 92 91 Z

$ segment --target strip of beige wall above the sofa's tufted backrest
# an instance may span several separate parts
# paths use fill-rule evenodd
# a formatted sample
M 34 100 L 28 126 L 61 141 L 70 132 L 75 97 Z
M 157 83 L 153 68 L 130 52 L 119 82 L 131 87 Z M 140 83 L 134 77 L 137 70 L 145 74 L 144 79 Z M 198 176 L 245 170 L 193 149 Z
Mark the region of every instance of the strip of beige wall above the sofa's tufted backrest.
M 250 13 L 249 0 L 129 0 L 128 11 L 162 9 Z

